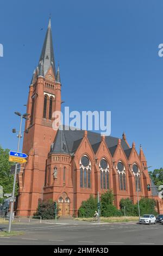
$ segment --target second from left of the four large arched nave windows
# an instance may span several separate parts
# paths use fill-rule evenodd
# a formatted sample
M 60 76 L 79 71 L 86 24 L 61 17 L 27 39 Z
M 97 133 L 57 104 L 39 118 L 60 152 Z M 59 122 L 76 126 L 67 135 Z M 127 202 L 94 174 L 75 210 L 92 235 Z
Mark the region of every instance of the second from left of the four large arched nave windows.
M 109 164 L 105 159 L 102 159 L 99 164 L 100 172 L 100 182 L 101 189 L 109 189 Z

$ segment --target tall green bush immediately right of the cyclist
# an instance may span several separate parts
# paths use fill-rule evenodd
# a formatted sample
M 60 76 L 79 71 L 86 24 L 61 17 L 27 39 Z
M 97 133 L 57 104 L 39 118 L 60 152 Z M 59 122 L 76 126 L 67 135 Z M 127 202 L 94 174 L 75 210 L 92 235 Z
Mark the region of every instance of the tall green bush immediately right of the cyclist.
M 114 195 L 108 190 L 101 195 L 101 215 L 103 217 L 122 216 L 122 212 L 113 205 Z

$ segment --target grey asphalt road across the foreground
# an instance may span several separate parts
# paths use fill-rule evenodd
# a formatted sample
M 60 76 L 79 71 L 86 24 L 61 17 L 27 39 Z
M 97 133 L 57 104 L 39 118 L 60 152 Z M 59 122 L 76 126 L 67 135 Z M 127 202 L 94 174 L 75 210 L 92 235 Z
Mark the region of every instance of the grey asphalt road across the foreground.
M 0 230 L 7 225 L 0 224 Z M 12 230 L 24 235 L 0 237 L 0 245 L 163 245 L 161 224 L 65 221 L 13 224 Z

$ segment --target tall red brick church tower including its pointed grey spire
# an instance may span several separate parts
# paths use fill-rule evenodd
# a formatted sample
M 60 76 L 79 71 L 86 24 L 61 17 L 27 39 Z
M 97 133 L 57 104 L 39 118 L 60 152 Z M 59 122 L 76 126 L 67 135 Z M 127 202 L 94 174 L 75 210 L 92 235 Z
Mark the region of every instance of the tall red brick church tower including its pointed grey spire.
M 39 199 L 43 198 L 47 157 L 57 132 L 52 128 L 53 112 L 60 110 L 60 71 L 58 68 L 56 74 L 49 19 L 39 64 L 29 86 L 27 113 L 30 115 L 25 125 L 28 133 L 24 133 L 23 139 L 23 153 L 28 155 L 28 162 L 18 176 L 17 215 L 33 215 Z

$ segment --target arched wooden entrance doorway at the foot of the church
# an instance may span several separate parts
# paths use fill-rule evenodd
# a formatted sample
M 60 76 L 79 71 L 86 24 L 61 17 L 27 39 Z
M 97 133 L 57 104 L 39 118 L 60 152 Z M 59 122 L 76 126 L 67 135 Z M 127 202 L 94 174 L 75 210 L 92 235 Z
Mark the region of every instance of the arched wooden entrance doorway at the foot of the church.
M 67 217 L 70 215 L 70 198 L 67 197 L 66 193 L 58 199 L 58 216 Z

